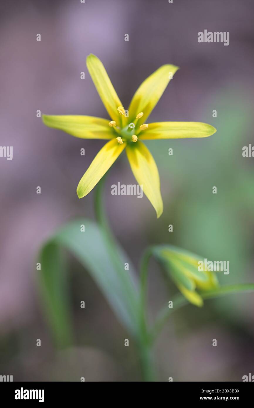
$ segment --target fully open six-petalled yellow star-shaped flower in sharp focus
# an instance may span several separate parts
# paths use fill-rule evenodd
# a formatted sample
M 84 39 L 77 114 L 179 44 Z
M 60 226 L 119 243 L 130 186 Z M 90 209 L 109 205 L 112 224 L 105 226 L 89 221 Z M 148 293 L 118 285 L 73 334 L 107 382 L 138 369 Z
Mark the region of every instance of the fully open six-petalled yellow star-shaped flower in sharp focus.
M 150 151 L 142 140 L 207 137 L 216 132 L 213 126 L 200 122 L 145 123 L 172 75 L 178 67 L 166 64 L 150 75 L 137 89 L 128 111 L 125 111 L 110 82 L 102 62 L 93 54 L 86 59 L 88 71 L 104 103 L 110 122 L 82 115 L 43 115 L 46 126 L 61 129 L 75 137 L 109 140 L 97 153 L 77 186 L 84 197 L 99 182 L 121 152 L 126 149 L 130 167 L 159 217 L 163 212 L 159 172 Z M 171 73 L 171 75 L 169 75 Z M 136 137 L 133 137 L 136 136 Z

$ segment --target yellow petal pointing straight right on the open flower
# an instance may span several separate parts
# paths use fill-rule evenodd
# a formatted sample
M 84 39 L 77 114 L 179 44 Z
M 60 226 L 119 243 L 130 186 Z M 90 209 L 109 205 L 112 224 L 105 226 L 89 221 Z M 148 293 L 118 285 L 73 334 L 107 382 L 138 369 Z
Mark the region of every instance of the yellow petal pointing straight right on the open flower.
M 216 129 L 202 122 L 157 122 L 149 123 L 148 129 L 139 134 L 141 140 L 179 139 L 183 137 L 208 137 Z

